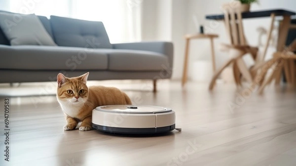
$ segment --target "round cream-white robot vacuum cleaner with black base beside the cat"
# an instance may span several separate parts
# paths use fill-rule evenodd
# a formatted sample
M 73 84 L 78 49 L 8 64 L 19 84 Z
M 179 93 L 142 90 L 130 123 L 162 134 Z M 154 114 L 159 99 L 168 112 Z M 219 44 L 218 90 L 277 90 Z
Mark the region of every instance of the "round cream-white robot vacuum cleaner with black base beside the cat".
M 121 134 L 152 134 L 175 129 L 175 112 L 148 105 L 107 105 L 92 111 L 92 126 Z

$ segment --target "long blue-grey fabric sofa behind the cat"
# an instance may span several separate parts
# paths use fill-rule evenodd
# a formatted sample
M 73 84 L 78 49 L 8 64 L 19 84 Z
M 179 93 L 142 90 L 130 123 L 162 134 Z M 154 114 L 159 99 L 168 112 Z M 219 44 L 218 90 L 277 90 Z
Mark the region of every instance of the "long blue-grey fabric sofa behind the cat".
M 171 42 L 111 44 L 102 22 L 38 18 L 57 46 L 10 45 L 0 30 L 0 83 L 56 81 L 60 72 L 90 72 L 88 80 L 171 78 Z

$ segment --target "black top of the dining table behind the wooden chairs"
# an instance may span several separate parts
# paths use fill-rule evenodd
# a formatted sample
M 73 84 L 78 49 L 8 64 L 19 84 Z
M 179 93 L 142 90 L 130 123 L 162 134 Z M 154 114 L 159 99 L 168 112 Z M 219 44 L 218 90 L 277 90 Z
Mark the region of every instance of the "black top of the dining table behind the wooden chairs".
M 283 16 L 283 15 L 290 15 L 291 16 L 291 15 L 296 14 L 293 11 L 288 11 L 288 10 L 284 10 L 284 9 L 273 9 L 273 10 L 243 12 L 242 18 L 270 17 L 271 13 L 274 13 L 276 16 Z M 222 20 L 222 19 L 224 19 L 224 15 L 223 14 L 206 15 L 206 19 Z

